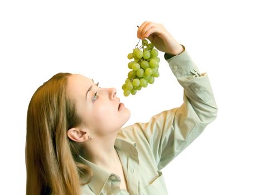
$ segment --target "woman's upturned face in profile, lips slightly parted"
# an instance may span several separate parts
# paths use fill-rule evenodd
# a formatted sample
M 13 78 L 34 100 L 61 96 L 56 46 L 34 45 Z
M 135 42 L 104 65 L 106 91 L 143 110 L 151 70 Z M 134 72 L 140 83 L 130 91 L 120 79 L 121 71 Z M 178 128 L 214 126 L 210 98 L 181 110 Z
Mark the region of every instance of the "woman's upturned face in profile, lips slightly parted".
M 69 77 L 67 93 L 75 101 L 82 124 L 93 135 L 117 131 L 128 121 L 130 111 L 120 104 L 115 88 L 101 88 L 92 79 L 74 74 Z

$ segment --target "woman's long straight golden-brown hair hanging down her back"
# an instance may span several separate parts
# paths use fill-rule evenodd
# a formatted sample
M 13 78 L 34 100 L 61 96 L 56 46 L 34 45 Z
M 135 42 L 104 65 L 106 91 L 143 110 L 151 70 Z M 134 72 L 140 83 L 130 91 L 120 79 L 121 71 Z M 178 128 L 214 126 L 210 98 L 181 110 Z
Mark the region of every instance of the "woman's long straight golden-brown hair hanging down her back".
M 79 155 L 83 147 L 66 131 L 81 122 L 66 94 L 70 73 L 59 73 L 33 94 L 27 111 L 27 195 L 78 195 L 91 170 Z

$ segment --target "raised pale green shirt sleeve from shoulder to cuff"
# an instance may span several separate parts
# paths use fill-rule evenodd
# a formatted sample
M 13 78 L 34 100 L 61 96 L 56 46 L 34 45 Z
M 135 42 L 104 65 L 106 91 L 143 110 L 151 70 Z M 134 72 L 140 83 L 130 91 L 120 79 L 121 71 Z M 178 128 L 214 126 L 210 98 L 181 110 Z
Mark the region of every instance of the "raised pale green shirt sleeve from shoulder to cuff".
M 190 145 L 218 113 L 207 74 L 200 74 L 181 46 L 183 52 L 176 56 L 165 53 L 165 59 L 184 89 L 183 104 L 152 116 L 148 123 L 134 124 L 146 137 L 158 170 Z

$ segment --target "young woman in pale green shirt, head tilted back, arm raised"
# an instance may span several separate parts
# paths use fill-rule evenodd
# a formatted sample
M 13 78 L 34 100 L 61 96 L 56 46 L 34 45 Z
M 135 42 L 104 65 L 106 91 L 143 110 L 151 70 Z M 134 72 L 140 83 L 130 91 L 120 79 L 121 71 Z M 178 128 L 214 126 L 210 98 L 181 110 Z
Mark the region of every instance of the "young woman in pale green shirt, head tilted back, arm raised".
M 216 118 L 207 74 L 165 27 L 144 22 L 148 38 L 184 89 L 179 108 L 122 129 L 130 111 L 114 88 L 59 73 L 40 86 L 27 112 L 28 194 L 167 194 L 160 170 Z

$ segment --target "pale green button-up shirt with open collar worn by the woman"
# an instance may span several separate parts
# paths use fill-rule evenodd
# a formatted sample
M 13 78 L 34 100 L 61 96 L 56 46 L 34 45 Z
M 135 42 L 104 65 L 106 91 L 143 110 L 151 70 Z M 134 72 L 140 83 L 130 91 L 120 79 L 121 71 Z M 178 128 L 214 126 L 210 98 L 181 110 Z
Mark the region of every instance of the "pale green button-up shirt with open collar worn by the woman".
M 121 129 L 115 140 L 114 147 L 123 166 L 129 193 L 119 188 L 117 174 L 84 159 L 94 175 L 90 183 L 81 188 L 81 194 L 167 194 L 160 170 L 193 142 L 218 112 L 207 74 L 199 73 L 182 47 L 182 53 L 176 56 L 165 53 L 165 59 L 184 89 L 183 104 L 152 116 L 148 123 Z

